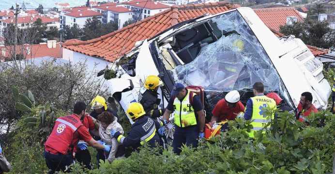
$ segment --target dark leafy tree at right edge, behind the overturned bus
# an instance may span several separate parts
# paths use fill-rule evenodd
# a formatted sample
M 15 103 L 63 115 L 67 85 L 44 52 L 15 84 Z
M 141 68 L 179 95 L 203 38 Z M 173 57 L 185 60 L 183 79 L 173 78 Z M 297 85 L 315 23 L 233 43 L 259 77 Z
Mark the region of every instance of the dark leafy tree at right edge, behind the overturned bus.
M 307 17 L 303 22 L 280 26 L 279 32 L 294 35 L 308 45 L 335 49 L 335 31 L 329 27 L 327 21 L 317 21 Z

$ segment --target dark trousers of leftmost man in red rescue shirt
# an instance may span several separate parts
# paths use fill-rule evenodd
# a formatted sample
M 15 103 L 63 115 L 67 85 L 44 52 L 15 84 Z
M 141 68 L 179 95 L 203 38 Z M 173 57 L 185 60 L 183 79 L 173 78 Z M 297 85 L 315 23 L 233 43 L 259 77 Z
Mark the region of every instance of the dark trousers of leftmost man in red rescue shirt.
M 48 174 L 54 174 L 55 172 L 60 171 L 60 169 L 64 172 L 71 172 L 69 167 L 75 162 L 72 154 L 54 155 L 44 151 L 43 156 L 46 159 L 46 166 L 49 168 Z

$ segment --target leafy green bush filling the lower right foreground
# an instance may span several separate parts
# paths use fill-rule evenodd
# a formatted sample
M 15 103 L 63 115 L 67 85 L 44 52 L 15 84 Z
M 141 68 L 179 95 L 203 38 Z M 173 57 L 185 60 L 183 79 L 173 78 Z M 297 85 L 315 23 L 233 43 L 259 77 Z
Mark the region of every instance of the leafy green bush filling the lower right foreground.
M 230 130 L 213 138 L 214 144 L 201 140 L 198 149 L 182 147 L 180 156 L 169 147 L 143 146 L 129 158 L 102 162 L 90 174 L 323 174 L 331 173 L 335 149 L 335 117 L 320 112 L 309 117 L 307 126 L 293 115 L 281 113 L 273 129 L 256 133 L 250 140 L 250 121 L 229 122 Z M 240 129 L 236 127 L 239 126 Z M 80 171 L 73 171 L 73 174 Z

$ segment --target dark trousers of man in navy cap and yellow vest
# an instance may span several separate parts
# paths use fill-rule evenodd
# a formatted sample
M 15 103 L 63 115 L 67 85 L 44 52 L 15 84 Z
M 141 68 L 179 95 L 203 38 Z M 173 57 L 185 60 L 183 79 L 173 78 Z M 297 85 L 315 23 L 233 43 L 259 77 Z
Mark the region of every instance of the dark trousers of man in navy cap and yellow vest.
M 182 150 L 180 149 L 183 144 L 192 147 L 198 147 L 198 136 L 199 136 L 199 126 L 189 126 L 186 128 L 180 128 L 175 125 L 175 131 L 173 134 L 173 151 L 177 155 L 180 155 Z

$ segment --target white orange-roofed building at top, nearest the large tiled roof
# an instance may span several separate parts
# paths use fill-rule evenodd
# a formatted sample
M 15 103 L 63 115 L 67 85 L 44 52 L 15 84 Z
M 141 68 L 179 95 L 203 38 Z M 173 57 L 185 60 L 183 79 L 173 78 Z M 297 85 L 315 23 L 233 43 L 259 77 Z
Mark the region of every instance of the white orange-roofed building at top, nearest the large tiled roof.
M 170 6 L 157 1 L 131 0 L 122 3 L 124 7 L 133 10 L 133 20 L 142 20 L 170 8 Z M 142 11 L 143 10 L 143 11 Z

